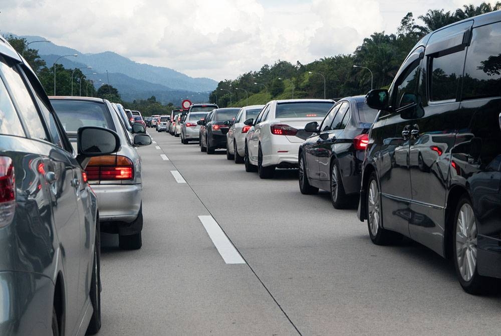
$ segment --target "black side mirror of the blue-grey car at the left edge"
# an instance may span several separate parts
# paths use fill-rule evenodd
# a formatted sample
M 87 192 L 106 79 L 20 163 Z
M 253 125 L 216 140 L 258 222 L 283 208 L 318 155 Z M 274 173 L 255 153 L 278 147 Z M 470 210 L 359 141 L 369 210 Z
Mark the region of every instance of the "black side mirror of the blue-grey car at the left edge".
M 120 150 L 120 138 L 111 129 L 84 126 L 77 133 L 77 161 L 85 169 L 86 159 L 93 156 L 107 155 Z

